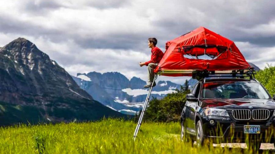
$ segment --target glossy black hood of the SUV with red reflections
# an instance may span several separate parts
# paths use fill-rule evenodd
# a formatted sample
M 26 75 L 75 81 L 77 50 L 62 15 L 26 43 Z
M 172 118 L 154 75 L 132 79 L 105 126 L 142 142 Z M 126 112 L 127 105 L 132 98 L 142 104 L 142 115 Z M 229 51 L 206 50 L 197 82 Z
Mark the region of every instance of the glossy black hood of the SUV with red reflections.
M 268 108 L 275 109 L 275 102 L 266 99 L 206 99 L 201 100 L 201 107 L 217 107 L 226 109 L 248 108 L 259 109 Z

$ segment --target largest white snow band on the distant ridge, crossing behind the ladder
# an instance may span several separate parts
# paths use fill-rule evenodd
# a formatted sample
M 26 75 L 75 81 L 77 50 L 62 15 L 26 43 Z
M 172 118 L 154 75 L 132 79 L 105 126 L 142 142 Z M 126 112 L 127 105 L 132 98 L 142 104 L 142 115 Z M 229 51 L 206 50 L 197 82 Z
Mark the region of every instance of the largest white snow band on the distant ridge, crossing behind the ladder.
M 148 94 L 148 91 L 145 89 L 131 89 L 131 88 L 126 88 L 122 89 L 123 92 L 127 93 L 130 96 L 139 96 L 139 95 L 146 95 Z M 166 95 L 168 93 L 173 93 L 176 92 L 175 90 L 169 89 L 165 91 L 152 91 L 151 94 L 159 94 L 159 95 Z

